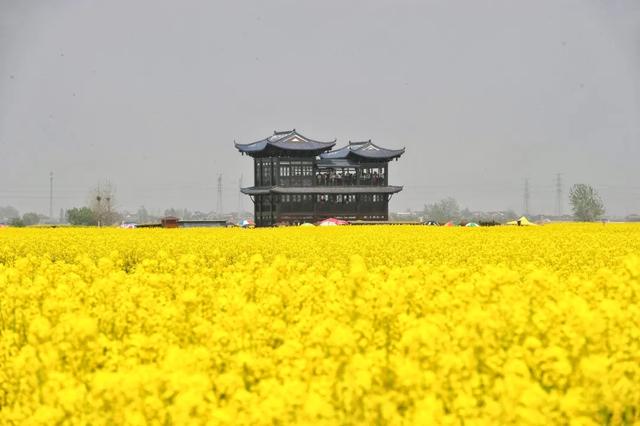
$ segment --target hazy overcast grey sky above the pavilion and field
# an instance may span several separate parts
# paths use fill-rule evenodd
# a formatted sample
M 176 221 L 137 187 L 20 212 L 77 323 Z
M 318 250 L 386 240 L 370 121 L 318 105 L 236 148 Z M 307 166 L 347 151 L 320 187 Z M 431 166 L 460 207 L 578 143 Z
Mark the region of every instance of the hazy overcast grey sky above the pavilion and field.
M 274 129 L 407 153 L 391 210 L 640 213 L 640 1 L 0 0 L 0 205 L 238 205 Z M 245 207 L 250 201 L 245 199 Z M 568 204 L 565 203 L 565 211 Z

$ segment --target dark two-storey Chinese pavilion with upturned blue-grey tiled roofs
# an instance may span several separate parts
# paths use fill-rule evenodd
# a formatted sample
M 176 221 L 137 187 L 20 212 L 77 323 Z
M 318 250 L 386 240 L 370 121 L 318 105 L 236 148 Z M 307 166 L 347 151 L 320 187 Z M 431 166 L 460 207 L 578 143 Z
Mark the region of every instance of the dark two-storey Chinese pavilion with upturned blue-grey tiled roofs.
M 235 144 L 254 159 L 254 186 L 241 188 L 255 206 L 257 226 L 279 222 L 388 220 L 389 200 L 401 186 L 389 185 L 389 161 L 403 149 L 382 148 L 371 140 L 309 139 L 295 129 L 248 144 Z

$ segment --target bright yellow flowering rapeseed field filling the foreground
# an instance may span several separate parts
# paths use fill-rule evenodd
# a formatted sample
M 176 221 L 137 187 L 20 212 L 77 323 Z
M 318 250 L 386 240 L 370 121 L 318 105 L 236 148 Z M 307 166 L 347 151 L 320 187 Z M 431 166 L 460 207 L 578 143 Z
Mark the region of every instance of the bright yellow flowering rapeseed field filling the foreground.
M 640 226 L 0 229 L 0 424 L 638 424 Z

